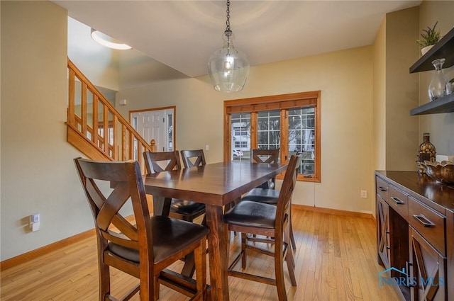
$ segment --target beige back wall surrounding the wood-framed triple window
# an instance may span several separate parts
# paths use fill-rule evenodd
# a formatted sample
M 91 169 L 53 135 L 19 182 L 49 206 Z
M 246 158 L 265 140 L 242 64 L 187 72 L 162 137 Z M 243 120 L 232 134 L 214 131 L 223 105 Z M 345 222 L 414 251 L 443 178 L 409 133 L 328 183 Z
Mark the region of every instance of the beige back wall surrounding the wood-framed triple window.
M 204 148 L 223 160 L 223 101 L 321 90 L 321 183 L 297 184 L 295 204 L 372 212 L 372 47 L 250 69 L 243 91 L 214 91 L 207 76 L 119 91 L 124 116 L 140 108 L 177 107 L 176 149 Z M 369 192 L 360 198 L 360 190 Z

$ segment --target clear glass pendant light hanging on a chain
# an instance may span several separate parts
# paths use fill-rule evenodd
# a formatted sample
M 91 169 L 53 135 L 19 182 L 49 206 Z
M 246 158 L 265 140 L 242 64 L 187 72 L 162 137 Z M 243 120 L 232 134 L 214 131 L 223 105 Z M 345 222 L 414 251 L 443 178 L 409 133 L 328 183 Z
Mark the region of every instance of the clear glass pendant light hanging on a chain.
M 230 30 L 230 0 L 227 0 L 226 31 L 224 45 L 213 52 L 208 61 L 208 73 L 214 89 L 221 92 L 236 92 L 243 89 L 248 78 L 249 62 L 243 52 L 233 47 L 233 33 Z

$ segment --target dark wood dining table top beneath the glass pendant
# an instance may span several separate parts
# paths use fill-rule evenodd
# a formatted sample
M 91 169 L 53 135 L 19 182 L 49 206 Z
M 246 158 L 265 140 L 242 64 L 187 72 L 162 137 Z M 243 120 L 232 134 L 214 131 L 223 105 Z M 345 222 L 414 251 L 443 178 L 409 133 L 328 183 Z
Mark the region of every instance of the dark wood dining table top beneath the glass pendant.
M 287 169 L 284 164 L 231 161 L 163 171 L 144 178 L 145 191 L 166 198 L 223 206 Z

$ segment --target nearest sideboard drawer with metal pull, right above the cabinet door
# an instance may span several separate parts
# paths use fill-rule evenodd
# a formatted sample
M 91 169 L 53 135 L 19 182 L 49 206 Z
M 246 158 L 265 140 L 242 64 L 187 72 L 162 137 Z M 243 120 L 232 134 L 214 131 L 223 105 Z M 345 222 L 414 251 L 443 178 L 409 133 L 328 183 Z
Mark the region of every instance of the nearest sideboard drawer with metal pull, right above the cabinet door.
M 426 207 L 418 200 L 409 196 L 409 223 L 435 249 L 446 256 L 445 224 L 446 217 Z

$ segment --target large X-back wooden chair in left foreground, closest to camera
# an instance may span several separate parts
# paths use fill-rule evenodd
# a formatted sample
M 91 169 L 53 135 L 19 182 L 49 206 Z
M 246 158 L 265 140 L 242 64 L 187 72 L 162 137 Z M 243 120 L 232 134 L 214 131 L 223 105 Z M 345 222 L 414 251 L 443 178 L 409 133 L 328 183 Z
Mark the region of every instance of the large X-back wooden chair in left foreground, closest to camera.
M 74 162 L 94 218 L 99 301 L 118 300 L 111 295 L 111 267 L 139 279 L 138 285 L 121 300 L 129 300 L 136 293 L 142 301 L 157 300 L 160 283 L 191 300 L 206 300 L 205 249 L 209 229 L 171 217 L 150 217 L 137 161 L 77 158 Z M 134 222 L 121 214 L 125 207 L 132 207 Z M 196 257 L 196 280 L 167 269 L 192 252 Z

